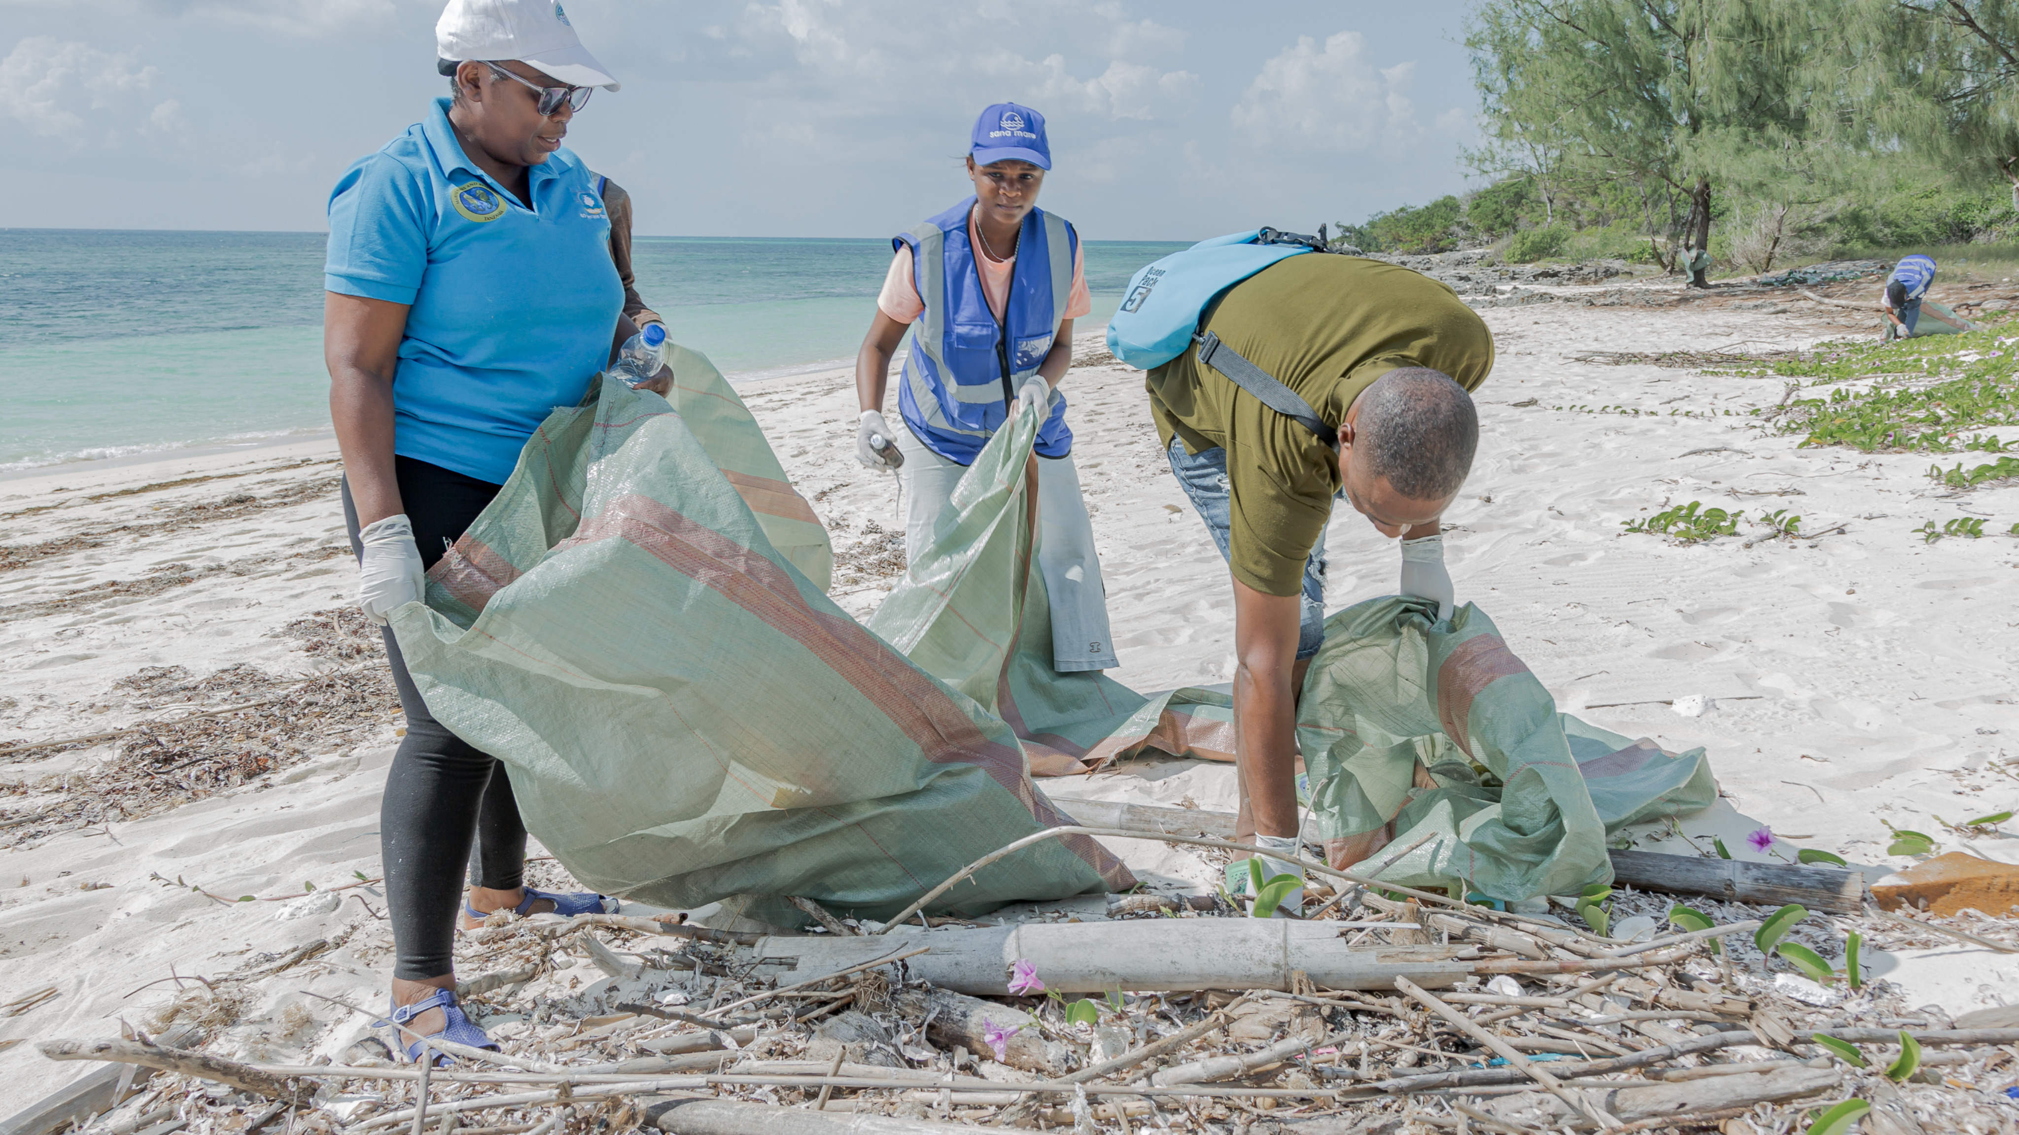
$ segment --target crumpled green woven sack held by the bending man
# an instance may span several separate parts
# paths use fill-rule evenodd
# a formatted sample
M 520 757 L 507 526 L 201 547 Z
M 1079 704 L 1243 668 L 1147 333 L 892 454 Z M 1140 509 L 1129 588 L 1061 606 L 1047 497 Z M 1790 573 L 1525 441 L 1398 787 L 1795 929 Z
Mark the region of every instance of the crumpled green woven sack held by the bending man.
M 1708 808 L 1702 749 L 1668 753 L 1557 703 L 1474 604 L 1381 598 L 1324 622 L 1298 705 L 1312 818 L 1335 866 L 1375 866 L 1387 842 L 1427 844 L 1381 872 L 1403 887 L 1492 899 L 1579 895 L 1613 876 L 1627 824 Z

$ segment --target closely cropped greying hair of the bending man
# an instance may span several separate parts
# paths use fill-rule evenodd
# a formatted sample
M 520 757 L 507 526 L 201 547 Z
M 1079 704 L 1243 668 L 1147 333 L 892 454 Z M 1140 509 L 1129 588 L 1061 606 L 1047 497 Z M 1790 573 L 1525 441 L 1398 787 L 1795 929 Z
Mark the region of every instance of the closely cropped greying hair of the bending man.
M 1464 386 L 1411 366 L 1375 380 L 1357 418 L 1369 471 L 1411 501 L 1458 495 L 1480 448 L 1480 414 Z

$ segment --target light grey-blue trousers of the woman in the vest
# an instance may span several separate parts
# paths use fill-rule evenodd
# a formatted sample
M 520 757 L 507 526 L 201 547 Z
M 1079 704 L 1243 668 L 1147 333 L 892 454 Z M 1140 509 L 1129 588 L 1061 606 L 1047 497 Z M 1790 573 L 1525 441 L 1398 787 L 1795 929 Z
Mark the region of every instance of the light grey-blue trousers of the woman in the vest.
M 967 467 L 925 448 L 911 428 L 896 430 L 896 448 L 905 454 L 896 471 L 905 489 L 905 557 L 917 559 L 933 543 L 939 513 Z M 1072 454 L 1038 458 L 1038 570 L 1052 608 L 1052 668 L 1066 675 L 1119 666 L 1094 521 L 1086 515 Z

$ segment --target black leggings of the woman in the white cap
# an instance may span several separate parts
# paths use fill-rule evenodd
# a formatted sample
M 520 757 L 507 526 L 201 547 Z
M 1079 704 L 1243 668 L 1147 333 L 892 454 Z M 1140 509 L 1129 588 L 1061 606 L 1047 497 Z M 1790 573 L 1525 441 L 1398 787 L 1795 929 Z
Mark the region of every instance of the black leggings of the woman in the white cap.
M 428 568 L 501 489 L 410 456 L 396 456 L 394 471 L 420 561 Z M 351 553 L 363 555 L 347 481 L 343 523 L 351 531 Z M 424 982 L 454 969 L 464 858 L 472 885 L 495 891 L 519 887 L 525 879 L 525 822 L 497 757 L 456 737 L 428 713 L 390 626 L 386 660 L 406 711 L 406 739 L 392 757 L 380 804 L 380 858 L 398 955 L 392 975 Z

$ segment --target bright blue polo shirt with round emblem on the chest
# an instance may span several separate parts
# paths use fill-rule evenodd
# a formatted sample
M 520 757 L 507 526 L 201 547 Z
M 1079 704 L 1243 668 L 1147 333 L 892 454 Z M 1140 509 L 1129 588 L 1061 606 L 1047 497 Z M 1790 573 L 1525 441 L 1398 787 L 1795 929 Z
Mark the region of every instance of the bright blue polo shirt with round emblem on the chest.
M 624 311 L 596 176 L 561 147 L 527 196 L 464 158 L 448 99 L 329 194 L 323 287 L 410 305 L 394 452 L 495 485 L 547 412 L 581 402 Z

